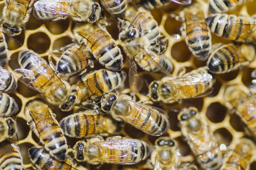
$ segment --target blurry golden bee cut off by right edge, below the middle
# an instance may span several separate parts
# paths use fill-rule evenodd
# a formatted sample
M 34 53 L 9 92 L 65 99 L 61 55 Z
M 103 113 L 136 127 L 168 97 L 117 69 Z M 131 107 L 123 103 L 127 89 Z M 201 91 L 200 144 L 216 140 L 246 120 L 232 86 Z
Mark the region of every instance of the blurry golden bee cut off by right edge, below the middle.
M 256 100 L 253 96 L 244 92 L 239 85 L 232 85 L 225 89 L 224 100 L 227 107 L 240 117 L 248 135 L 256 139 Z

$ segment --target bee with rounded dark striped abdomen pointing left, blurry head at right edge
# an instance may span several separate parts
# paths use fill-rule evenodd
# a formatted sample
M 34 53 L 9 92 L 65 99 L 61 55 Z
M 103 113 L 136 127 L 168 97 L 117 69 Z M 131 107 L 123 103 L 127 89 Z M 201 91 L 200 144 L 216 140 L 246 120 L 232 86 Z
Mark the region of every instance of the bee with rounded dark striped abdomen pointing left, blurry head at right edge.
M 207 65 L 214 74 L 222 74 L 246 66 L 255 59 L 256 52 L 253 45 L 242 44 L 221 45 L 210 55 Z

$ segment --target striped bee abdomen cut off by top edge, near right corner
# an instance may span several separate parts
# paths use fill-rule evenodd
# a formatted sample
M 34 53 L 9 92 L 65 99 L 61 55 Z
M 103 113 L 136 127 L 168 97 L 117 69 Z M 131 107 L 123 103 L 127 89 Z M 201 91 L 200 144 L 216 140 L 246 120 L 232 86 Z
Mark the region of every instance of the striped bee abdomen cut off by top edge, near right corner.
M 227 12 L 236 6 L 249 2 L 251 0 L 209 0 L 209 13 Z

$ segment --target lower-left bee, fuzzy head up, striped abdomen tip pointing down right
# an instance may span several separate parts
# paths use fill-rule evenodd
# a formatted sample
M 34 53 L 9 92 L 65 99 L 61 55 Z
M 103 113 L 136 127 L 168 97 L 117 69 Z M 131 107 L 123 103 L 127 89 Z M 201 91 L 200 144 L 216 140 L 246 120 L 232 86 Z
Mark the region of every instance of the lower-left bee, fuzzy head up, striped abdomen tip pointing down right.
M 61 130 L 56 115 L 40 99 L 30 101 L 25 107 L 27 125 L 38 136 L 49 154 L 59 161 L 67 157 L 67 139 Z

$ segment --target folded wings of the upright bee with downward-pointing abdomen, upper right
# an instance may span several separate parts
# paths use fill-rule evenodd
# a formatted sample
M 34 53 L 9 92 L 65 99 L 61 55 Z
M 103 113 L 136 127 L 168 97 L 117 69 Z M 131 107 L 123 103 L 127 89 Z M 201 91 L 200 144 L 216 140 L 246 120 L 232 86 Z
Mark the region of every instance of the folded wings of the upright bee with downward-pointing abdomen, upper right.
M 205 41 L 208 37 L 208 27 L 204 19 L 204 13 L 199 12 L 196 15 L 186 13 L 185 18 L 186 34 L 189 39 L 192 42 L 198 42 L 199 40 Z M 195 18 L 198 22 L 195 22 Z

